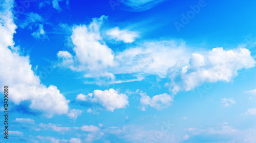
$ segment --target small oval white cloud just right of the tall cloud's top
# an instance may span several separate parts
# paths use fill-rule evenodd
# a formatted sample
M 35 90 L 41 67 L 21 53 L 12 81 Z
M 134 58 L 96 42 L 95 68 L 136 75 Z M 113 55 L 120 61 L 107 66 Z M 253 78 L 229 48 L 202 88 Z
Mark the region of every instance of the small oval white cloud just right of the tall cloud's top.
M 119 30 L 118 27 L 112 28 L 106 32 L 106 35 L 109 35 L 112 39 L 116 41 L 123 41 L 125 43 L 134 42 L 135 38 L 138 37 L 136 32 L 131 32 L 128 30 Z

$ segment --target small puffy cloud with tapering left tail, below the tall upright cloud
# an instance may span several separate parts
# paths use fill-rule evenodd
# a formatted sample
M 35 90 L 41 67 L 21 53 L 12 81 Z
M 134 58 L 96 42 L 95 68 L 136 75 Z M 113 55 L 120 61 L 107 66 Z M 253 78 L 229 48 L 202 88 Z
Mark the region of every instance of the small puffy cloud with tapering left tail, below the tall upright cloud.
M 88 95 L 79 94 L 76 96 L 76 99 L 92 103 L 100 103 L 109 111 L 125 108 L 125 106 L 129 104 L 128 97 L 125 94 L 118 94 L 114 89 L 105 91 L 95 90 Z

